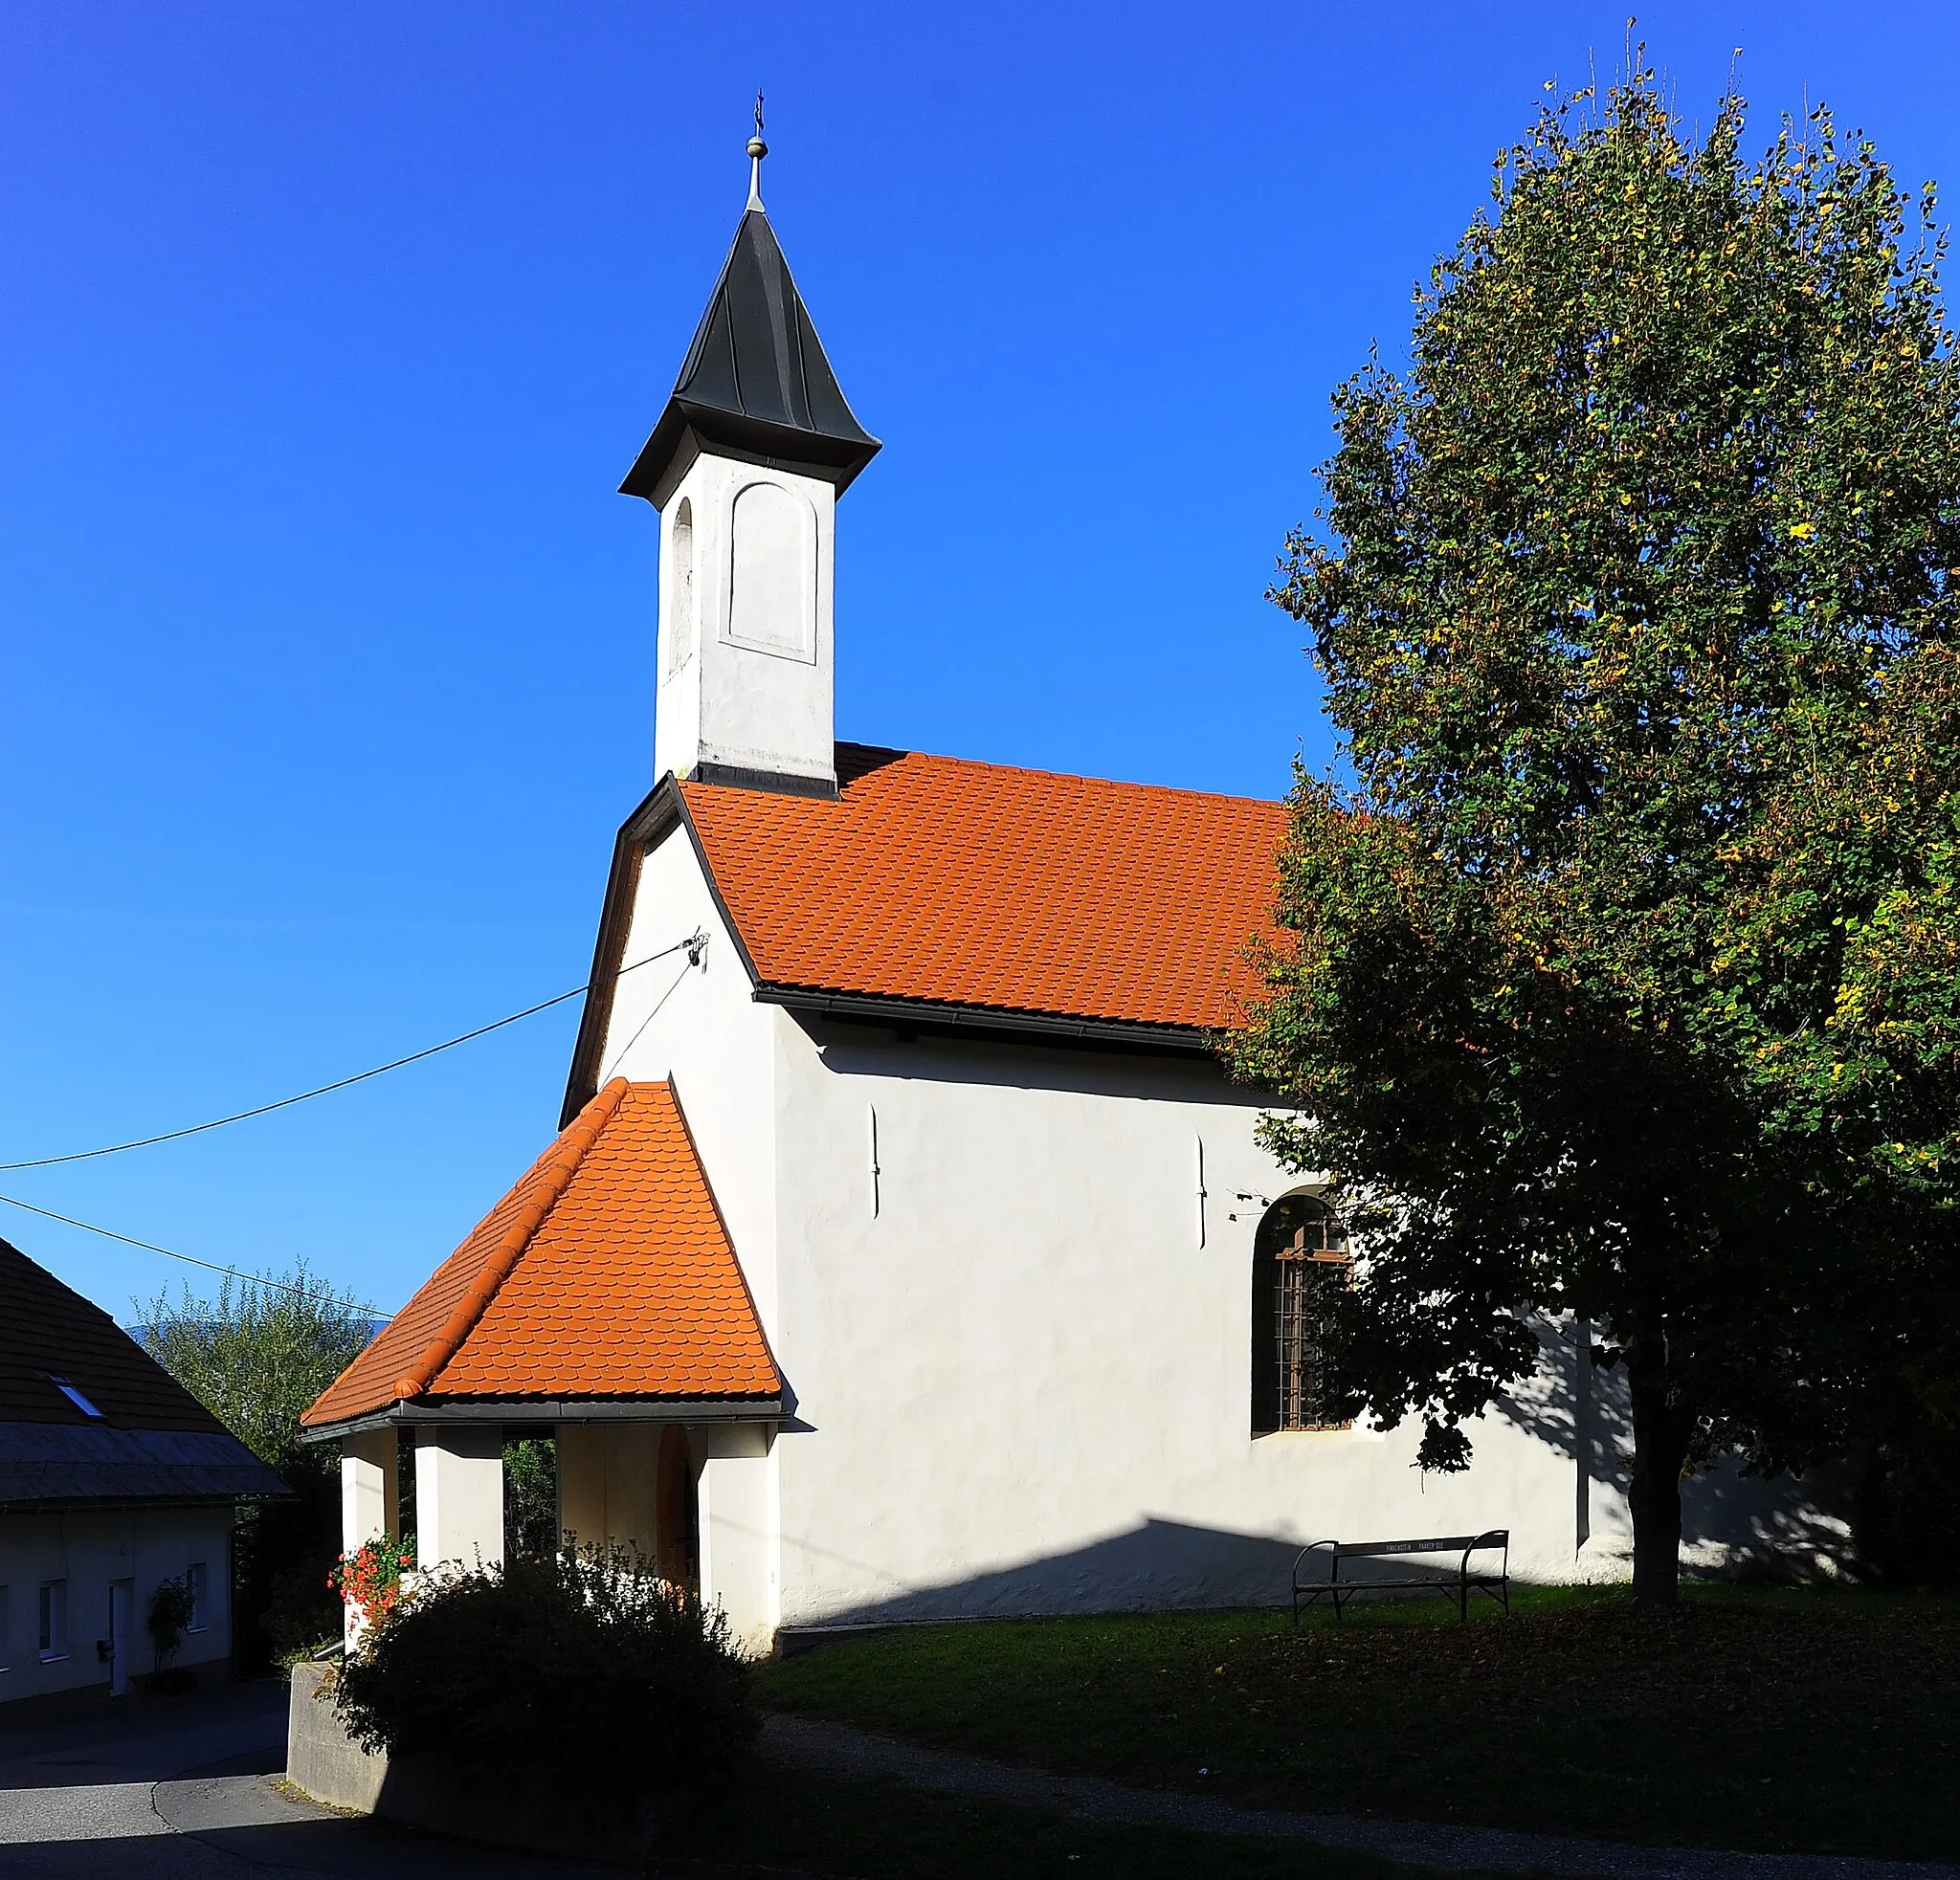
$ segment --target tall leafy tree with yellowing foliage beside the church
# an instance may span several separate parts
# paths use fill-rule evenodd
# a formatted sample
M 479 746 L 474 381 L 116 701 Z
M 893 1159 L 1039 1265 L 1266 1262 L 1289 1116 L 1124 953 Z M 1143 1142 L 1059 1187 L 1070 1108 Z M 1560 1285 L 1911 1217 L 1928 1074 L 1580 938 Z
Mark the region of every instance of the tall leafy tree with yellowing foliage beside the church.
M 1425 1466 L 1537 1362 L 1625 1366 L 1635 1600 L 1680 1480 L 1954 1408 L 1960 376 L 1933 194 L 1827 112 L 1739 155 L 1650 71 L 1550 104 L 1335 394 L 1299 776 L 1229 1043 L 1366 1249 L 1345 1382 Z

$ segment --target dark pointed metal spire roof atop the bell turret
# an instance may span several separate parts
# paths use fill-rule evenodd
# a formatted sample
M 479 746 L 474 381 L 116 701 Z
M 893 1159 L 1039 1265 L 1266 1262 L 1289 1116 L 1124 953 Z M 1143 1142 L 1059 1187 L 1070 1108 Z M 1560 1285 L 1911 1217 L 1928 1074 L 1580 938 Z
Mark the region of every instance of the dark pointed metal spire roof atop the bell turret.
M 829 476 L 839 490 L 878 455 L 759 208 L 743 212 L 674 392 L 619 492 L 659 502 L 690 429 L 706 443 Z

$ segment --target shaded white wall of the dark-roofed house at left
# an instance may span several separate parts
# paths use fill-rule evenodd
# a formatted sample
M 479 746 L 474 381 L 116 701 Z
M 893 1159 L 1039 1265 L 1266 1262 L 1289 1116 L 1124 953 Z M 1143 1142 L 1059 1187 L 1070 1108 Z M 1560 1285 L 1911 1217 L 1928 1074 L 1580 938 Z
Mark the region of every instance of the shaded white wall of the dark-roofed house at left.
M 33 1698 L 84 1684 L 108 1684 L 110 1668 L 96 1658 L 96 1639 L 110 1631 L 110 1582 L 131 1580 L 129 1668 L 151 1668 L 143 1621 L 161 1580 L 204 1562 L 204 1627 L 188 1633 L 174 1664 L 225 1666 L 231 1657 L 231 1509 L 157 1508 L 98 1513 L 0 1515 L 0 1586 L 6 1588 L 8 1633 L 0 1641 L 0 1702 Z M 43 1580 L 69 1582 L 69 1653 L 41 1662 L 39 1590 Z

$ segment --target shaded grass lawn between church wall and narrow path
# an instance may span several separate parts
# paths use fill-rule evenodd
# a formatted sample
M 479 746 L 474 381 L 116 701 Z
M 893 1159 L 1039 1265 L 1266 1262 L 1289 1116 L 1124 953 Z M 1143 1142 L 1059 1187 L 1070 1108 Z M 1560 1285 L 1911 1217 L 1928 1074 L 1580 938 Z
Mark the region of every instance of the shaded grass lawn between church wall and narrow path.
M 1470 1625 L 1441 1600 L 1374 1606 L 1298 1633 L 1266 1611 L 874 1633 L 766 1666 L 762 1700 L 1266 1807 L 1960 1853 L 1960 1602 L 1690 1588 L 1637 1615 L 1617 1588 L 1570 1588 L 1513 1606 Z

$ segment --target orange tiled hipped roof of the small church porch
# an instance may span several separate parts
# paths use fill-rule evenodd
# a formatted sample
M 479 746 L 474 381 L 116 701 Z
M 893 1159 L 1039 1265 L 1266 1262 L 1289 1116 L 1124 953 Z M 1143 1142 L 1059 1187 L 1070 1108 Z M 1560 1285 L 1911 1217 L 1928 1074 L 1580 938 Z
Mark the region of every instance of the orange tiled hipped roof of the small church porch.
M 780 1390 L 672 1086 L 613 1078 L 302 1421 Z

